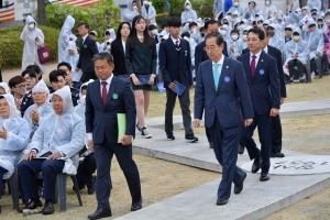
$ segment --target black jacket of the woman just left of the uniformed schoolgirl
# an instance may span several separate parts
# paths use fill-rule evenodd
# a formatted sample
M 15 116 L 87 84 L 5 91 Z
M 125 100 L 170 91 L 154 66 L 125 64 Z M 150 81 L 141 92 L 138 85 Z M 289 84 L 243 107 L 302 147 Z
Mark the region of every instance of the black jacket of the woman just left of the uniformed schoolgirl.
M 121 38 L 116 38 L 111 43 L 111 55 L 113 56 L 114 76 L 128 74 L 125 66 L 125 54 Z

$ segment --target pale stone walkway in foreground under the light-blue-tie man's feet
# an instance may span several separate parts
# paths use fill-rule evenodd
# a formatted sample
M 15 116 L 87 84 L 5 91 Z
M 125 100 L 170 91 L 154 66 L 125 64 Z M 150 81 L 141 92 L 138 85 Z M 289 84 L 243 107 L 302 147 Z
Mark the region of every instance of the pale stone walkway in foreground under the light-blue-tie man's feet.
M 216 206 L 220 179 L 176 195 L 118 220 L 254 220 L 268 216 L 330 186 L 330 174 L 271 176 L 248 174 L 244 189 L 231 195 L 228 205 Z M 194 178 L 194 177 L 191 177 Z

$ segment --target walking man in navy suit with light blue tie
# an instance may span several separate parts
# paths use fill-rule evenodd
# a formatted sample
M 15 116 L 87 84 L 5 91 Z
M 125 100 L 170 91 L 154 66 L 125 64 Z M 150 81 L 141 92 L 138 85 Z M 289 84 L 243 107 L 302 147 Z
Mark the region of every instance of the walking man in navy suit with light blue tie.
M 243 189 L 246 173 L 237 166 L 240 128 L 253 121 L 253 108 L 243 65 L 224 57 L 223 37 L 218 32 L 206 36 L 206 47 L 211 61 L 200 64 L 195 90 L 195 120 L 199 127 L 205 110 L 205 125 L 210 129 L 216 157 L 222 166 L 217 205 L 228 202 L 231 184 L 234 194 Z

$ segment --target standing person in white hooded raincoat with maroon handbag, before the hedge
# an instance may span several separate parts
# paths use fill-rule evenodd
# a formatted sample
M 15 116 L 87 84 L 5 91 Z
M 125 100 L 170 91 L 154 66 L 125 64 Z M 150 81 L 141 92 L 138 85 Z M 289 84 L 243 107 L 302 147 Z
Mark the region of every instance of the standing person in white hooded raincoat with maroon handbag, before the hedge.
M 29 65 L 36 64 L 42 73 L 46 73 L 46 67 L 40 63 L 37 56 L 37 48 L 44 45 L 44 33 L 36 28 L 37 24 L 31 15 L 26 16 L 25 23 L 26 25 L 21 33 L 21 40 L 24 42 L 22 72 L 25 70 Z

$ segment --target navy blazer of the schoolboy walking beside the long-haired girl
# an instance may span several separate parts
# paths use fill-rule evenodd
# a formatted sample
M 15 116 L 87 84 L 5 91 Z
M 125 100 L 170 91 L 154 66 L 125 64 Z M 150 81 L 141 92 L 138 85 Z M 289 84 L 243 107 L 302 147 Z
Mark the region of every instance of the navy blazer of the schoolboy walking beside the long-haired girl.
M 186 87 L 193 86 L 191 58 L 189 42 L 180 38 L 180 51 L 172 41 L 172 37 L 163 41 L 158 52 L 160 67 L 164 78 L 164 87 L 177 80 Z

